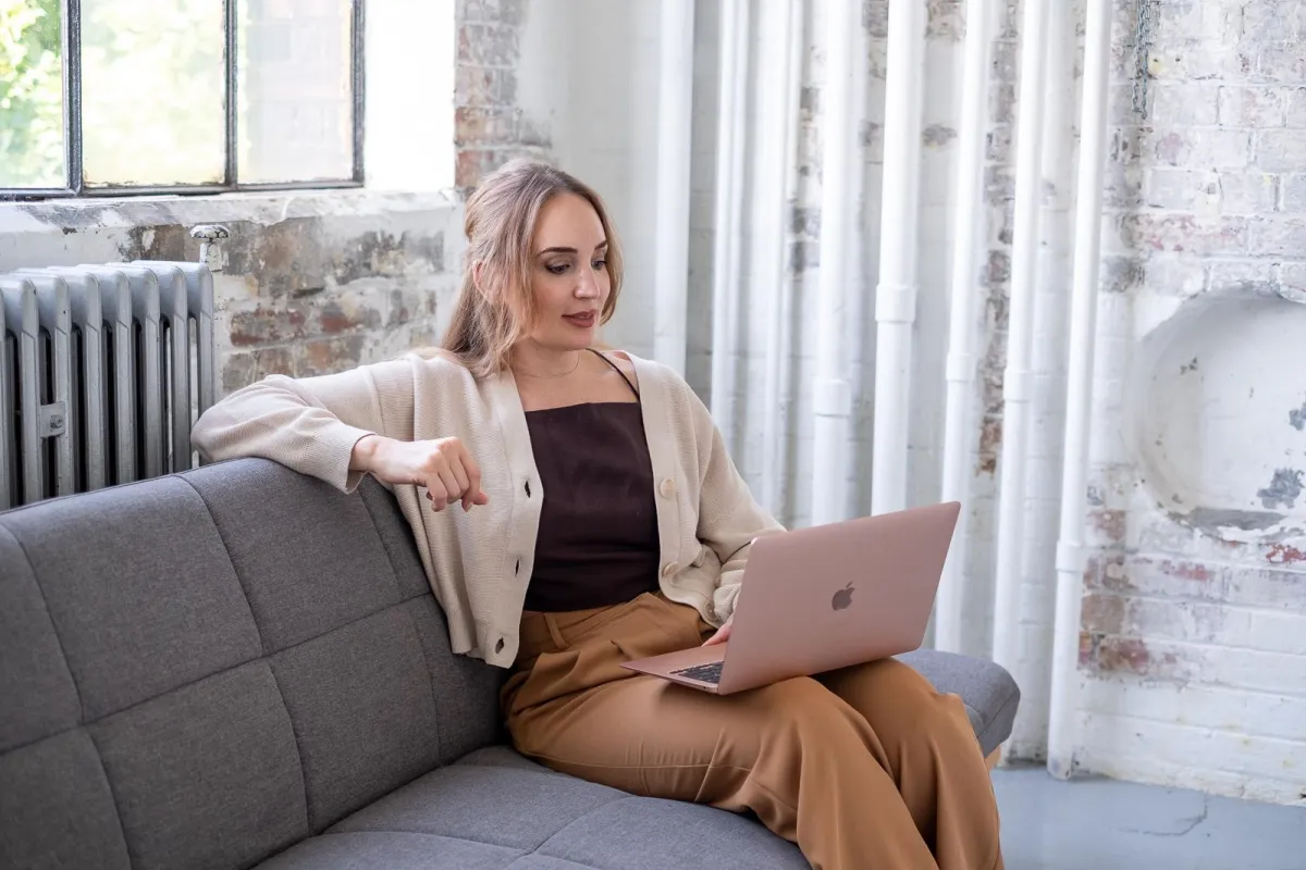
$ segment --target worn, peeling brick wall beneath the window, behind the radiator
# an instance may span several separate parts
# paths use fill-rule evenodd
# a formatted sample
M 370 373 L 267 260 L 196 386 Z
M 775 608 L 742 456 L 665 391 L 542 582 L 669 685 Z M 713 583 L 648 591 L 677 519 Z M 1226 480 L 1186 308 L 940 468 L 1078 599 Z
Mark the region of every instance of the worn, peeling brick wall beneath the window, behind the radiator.
M 214 277 L 219 394 L 266 374 L 311 376 L 398 356 L 439 338 L 457 286 L 460 210 L 444 197 L 362 192 L 31 203 L 5 232 L 0 269 L 199 260 L 189 231 L 221 223 Z M 447 248 L 448 243 L 448 248 Z

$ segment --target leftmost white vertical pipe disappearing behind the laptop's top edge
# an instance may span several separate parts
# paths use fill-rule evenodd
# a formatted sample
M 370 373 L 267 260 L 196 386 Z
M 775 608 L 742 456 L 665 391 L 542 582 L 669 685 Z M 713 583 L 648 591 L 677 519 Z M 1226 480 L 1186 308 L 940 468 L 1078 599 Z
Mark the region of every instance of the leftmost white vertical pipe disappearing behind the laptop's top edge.
M 848 308 L 858 288 L 850 274 L 858 232 L 854 179 L 861 177 L 857 147 L 865 100 L 858 83 L 862 47 L 861 5 L 824 7 L 825 85 L 821 91 L 820 274 L 816 299 L 816 383 L 812 433 L 812 523 L 846 519 L 848 442 L 853 391 L 848 381 Z

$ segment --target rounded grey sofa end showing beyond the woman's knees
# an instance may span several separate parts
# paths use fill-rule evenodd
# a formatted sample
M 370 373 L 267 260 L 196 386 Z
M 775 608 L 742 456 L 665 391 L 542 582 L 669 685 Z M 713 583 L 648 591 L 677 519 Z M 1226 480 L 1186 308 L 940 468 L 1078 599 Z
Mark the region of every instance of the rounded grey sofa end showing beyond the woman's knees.
M 985 755 L 1011 737 L 1020 687 L 1006 668 L 987 659 L 938 650 L 917 650 L 899 659 L 921 672 L 936 691 L 961 698 Z

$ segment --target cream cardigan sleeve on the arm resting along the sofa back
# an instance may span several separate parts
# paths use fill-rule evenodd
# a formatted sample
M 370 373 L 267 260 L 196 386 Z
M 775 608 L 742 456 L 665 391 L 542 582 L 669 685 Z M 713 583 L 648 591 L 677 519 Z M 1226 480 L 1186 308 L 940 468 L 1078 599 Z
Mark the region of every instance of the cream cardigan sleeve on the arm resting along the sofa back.
M 413 380 L 400 360 L 307 378 L 270 374 L 205 411 L 191 441 L 208 462 L 260 457 L 350 493 L 363 479 L 349 468 L 360 438 L 413 437 Z

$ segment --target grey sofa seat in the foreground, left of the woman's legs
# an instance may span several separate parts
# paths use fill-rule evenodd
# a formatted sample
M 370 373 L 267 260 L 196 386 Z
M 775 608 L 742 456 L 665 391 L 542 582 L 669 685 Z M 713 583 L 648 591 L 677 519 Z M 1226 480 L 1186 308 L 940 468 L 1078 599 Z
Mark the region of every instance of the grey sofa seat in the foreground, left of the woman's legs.
M 260 870 L 807 870 L 755 819 L 635 797 L 505 746 L 432 771 Z

